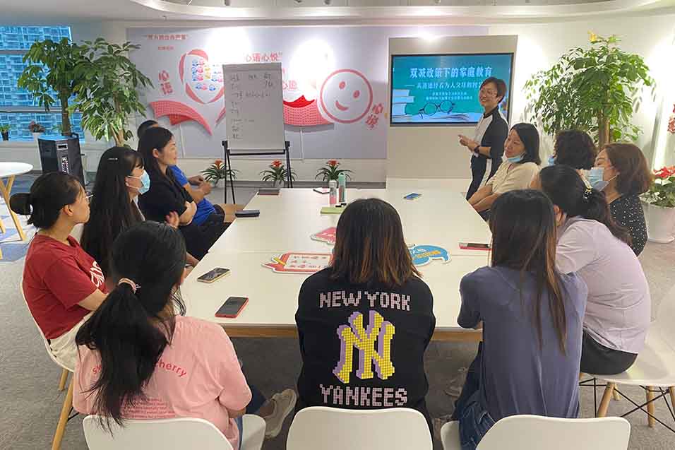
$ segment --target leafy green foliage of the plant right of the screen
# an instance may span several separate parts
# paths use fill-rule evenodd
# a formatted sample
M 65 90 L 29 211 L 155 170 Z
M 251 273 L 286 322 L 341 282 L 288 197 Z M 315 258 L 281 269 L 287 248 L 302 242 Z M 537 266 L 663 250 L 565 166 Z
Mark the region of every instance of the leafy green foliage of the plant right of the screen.
M 640 55 L 623 52 L 619 38 L 590 33 L 590 48 L 569 50 L 547 71 L 525 83 L 532 111 L 548 134 L 581 129 L 603 146 L 635 141 L 641 130 L 631 123 L 644 85 L 652 86 Z

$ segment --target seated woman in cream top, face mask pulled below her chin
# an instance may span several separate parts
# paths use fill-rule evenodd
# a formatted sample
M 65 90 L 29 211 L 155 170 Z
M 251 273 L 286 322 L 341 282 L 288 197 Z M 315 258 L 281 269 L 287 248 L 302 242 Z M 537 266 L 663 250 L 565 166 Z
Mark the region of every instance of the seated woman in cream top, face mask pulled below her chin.
M 537 174 L 539 164 L 539 133 L 532 124 L 515 124 L 508 133 L 504 143 L 503 162 L 494 177 L 487 184 L 476 191 L 469 199 L 469 203 L 488 220 L 492 203 L 508 191 L 525 189 L 532 177 Z

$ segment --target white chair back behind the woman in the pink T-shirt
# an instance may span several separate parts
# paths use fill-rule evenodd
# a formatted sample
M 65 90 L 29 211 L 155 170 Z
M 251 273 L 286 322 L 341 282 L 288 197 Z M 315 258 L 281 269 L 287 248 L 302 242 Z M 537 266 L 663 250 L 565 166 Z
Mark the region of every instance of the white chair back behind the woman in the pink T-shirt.
M 125 420 L 123 427 L 111 423 L 112 435 L 101 428 L 98 416 L 85 418 L 82 426 L 89 450 L 232 450 L 225 435 L 203 419 Z M 265 440 L 265 420 L 244 415 L 243 434 L 241 450 L 260 450 Z

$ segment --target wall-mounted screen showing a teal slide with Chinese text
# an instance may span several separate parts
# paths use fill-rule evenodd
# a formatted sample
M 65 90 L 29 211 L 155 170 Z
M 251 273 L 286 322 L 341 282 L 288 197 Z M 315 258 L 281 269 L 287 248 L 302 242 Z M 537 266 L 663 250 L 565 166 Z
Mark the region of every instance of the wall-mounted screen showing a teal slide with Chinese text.
M 513 54 L 392 55 L 391 124 L 476 124 L 485 78 L 506 82 L 499 108 L 508 119 Z

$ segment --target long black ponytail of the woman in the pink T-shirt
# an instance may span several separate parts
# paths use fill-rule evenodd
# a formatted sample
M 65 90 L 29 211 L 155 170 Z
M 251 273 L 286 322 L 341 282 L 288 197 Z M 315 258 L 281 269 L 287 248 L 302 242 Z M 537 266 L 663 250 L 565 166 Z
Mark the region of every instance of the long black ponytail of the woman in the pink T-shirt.
M 185 244 L 178 230 L 157 222 L 141 222 L 115 239 L 111 258 L 116 287 L 83 324 L 77 345 L 100 355 L 101 371 L 90 386 L 93 413 L 110 429 L 122 423 L 124 407 L 143 400 L 143 388 L 171 343 L 175 314 L 185 314 L 177 285 L 185 266 Z M 133 280 L 136 292 L 121 278 Z M 178 311 L 176 311 L 176 308 Z

